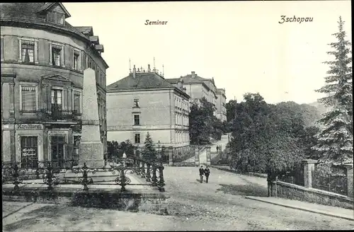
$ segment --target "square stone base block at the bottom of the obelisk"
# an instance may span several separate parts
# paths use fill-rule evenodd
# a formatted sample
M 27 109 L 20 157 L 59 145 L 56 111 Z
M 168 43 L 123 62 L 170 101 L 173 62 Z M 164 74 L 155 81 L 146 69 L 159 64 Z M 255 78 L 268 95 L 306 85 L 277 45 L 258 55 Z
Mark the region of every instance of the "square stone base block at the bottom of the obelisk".
M 101 141 L 81 142 L 79 166 L 84 166 L 84 163 L 90 168 L 103 168 L 105 166 Z

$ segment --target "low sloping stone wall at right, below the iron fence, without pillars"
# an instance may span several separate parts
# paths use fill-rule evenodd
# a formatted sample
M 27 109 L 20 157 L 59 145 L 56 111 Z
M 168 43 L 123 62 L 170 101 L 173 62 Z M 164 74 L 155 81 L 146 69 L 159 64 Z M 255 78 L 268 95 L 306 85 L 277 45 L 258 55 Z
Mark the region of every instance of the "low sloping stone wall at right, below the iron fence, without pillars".
M 354 209 L 352 198 L 338 195 L 333 192 L 302 187 L 282 181 L 273 181 L 268 187 L 270 187 L 271 197 L 283 197 L 287 199 L 296 199 L 302 202 L 312 202 L 333 207 Z

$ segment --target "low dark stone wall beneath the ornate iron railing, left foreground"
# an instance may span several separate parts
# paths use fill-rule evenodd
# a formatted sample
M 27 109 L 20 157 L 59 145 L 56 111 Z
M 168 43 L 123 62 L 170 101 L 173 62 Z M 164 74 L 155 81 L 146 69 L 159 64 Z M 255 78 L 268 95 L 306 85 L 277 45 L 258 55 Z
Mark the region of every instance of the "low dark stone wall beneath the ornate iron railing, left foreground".
M 67 204 L 72 206 L 118 209 L 122 211 L 147 211 L 164 214 L 166 197 L 162 193 L 118 192 L 117 190 L 53 190 L 45 189 L 3 190 L 3 200 L 13 202 L 35 202 L 43 204 Z

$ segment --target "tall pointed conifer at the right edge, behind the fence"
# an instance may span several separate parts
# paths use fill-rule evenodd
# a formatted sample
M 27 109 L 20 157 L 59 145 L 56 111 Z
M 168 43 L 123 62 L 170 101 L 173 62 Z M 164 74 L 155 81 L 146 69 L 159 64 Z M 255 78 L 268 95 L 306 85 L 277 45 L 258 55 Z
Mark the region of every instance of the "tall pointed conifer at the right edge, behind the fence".
M 319 142 L 313 147 L 321 153 L 321 163 L 343 164 L 353 163 L 353 73 L 350 66 L 351 43 L 345 39 L 346 32 L 343 30 L 341 17 L 338 22 L 338 33 L 333 35 L 338 42 L 331 42 L 329 45 L 334 51 L 327 52 L 334 55 L 336 59 L 329 64 L 329 76 L 325 77 L 326 85 L 316 90 L 318 93 L 326 93 L 326 97 L 320 98 L 330 108 L 324 113 L 319 123 L 324 125 L 317 137 Z

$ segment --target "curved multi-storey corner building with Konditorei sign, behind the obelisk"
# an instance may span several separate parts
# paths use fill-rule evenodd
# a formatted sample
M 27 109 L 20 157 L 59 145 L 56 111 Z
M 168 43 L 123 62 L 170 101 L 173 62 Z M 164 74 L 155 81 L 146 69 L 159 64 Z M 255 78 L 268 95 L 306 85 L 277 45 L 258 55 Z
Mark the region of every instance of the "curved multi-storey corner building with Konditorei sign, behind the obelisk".
M 83 71 L 96 71 L 106 149 L 105 71 L 91 27 L 65 21 L 61 3 L 1 4 L 2 161 L 35 166 L 79 153 Z

